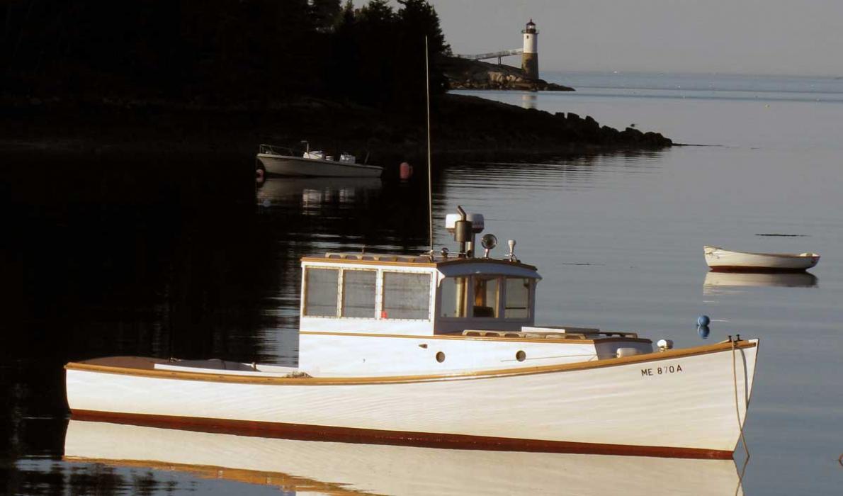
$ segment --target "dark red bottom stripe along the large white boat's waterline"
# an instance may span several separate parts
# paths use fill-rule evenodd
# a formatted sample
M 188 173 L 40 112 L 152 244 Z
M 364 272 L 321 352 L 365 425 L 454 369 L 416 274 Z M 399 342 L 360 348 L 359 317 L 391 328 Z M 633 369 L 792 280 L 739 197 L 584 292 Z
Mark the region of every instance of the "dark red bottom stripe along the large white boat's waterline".
M 174 417 L 120 412 L 73 410 L 78 420 L 109 421 L 162 427 L 165 429 L 198 430 L 200 432 L 237 434 L 263 438 L 354 442 L 375 445 L 410 445 L 429 448 L 490 451 L 532 451 L 545 453 L 578 453 L 593 455 L 659 456 L 664 458 L 713 458 L 728 460 L 732 451 L 672 446 L 605 445 L 542 439 L 498 438 L 468 434 L 405 432 L 397 430 L 351 429 L 300 423 L 255 422 L 219 418 Z

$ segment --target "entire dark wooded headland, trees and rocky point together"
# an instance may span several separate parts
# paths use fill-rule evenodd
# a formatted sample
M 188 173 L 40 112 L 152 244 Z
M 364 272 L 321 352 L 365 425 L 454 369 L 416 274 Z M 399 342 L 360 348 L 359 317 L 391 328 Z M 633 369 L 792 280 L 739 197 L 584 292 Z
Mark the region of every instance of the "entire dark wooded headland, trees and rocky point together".
M 590 117 L 448 94 L 454 59 L 437 13 L 426 0 L 398 3 L 3 3 L 4 145 L 247 154 L 309 139 L 413 156 L 425 139 L 426 36 L 441 152 L 671 144 Z

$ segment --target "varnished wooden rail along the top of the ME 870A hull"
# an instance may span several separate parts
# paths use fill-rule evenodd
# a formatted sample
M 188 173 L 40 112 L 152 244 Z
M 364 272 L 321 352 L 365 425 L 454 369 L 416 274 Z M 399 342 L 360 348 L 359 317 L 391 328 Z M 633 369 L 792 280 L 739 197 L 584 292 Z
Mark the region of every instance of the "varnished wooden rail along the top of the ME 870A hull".
M 518 375 L 550 374 L 572 370 L 599 369 L 626 364 L 646 364 L 669 359 L 679 359 L 708 353 L 718 353 L 732 349 L 732 342 L 719 342 L 696 348 L 668 350 L 661 353 L 647 353 L 622 357 L 620 359 L 603 359 L 591 362 L 577 362 L 576 364 L 556 364 L 527 366 L 515 369 L 494 369 L 478 372 L 459 372 L 437 375 L 390 375 L 384 377 L 255 377 L 245 375 L 219 375 L 213 372 L 181 372 L 176 370 L 137 369 L 104 364 L 86 364 L 71 362 L 64 366 L 67 370 L 81 370 L 102 374 L 134 375 L 170 380 L 199 380 L 208 382 L 225 382 L 237 384 L 265 384 L 265 385 L 384 385 L 412 382 L 436 382 L 441 380 L 477 380 Z M 754 348 L 755 342 L 740 341 L 734 343 L 736 349 Z

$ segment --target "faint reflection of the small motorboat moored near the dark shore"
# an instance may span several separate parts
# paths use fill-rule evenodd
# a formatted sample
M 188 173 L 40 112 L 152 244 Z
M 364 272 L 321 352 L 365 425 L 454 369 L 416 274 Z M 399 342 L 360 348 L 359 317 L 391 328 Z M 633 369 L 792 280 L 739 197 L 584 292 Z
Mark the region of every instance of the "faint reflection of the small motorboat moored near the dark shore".
M 255 202 L 271 208 L 276 203 L 301 198 L 304 209 L 331 203 L 352 203 L 381 187 L 378 177 L 272 178 L 255 185 Z

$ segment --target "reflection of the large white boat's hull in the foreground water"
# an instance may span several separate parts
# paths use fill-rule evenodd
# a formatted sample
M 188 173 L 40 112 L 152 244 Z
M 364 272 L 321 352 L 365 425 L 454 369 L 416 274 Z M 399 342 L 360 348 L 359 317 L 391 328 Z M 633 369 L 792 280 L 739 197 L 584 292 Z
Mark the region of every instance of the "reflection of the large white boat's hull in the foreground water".
M 64 457 L 317 494 L 743 494 L 732 460 L 443 450 L 242 434 L 73 419 Z

